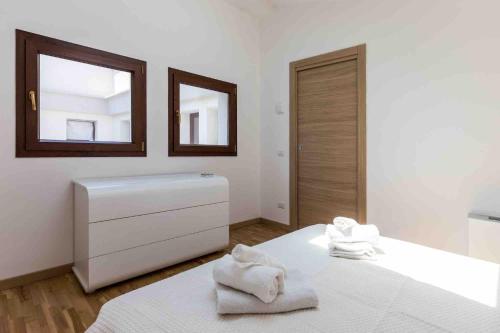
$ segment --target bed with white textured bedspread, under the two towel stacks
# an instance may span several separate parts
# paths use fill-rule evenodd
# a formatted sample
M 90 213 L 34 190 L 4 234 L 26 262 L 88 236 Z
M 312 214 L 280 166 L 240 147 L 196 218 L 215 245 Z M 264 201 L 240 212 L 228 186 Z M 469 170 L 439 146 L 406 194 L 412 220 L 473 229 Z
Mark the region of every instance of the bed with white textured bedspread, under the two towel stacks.
M 256 246 L 310 277 L 317 309 L 218 315 L 211 262 L 109 301 L 88 332 L 500 332 L 498 265 L 385 237 L 377 261 L 334 258 L 324 230 Z

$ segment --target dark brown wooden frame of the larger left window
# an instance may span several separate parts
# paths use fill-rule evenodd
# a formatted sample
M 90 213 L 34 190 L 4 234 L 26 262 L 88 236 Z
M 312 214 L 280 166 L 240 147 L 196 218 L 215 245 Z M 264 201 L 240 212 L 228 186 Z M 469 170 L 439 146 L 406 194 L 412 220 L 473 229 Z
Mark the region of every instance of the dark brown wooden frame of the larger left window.
M 40 54 L 131 73 L 132 142 L 40 140 Z M 146 62 L 16 30 L 16 110 L 16 157 L 146 156 Z

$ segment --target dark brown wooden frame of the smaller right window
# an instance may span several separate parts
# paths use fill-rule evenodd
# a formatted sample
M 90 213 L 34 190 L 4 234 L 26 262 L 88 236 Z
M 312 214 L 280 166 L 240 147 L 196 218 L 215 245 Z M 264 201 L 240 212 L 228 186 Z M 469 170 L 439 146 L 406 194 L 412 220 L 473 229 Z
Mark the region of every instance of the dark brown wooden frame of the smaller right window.
M 214 90 L 228 94 L 228 145 L 180 144 L 180 85 Z M 169 156 L 237 156 L 237 86 L 202 75 L 168 68 L 168 154 Z

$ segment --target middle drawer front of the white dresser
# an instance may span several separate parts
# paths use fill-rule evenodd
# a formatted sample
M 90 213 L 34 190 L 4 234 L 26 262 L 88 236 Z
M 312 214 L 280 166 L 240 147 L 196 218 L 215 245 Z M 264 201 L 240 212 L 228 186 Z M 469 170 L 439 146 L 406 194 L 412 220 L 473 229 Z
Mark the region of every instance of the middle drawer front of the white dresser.
M 89 224 L 89 257 L 229 224 L 229 203 L 197 206 Z

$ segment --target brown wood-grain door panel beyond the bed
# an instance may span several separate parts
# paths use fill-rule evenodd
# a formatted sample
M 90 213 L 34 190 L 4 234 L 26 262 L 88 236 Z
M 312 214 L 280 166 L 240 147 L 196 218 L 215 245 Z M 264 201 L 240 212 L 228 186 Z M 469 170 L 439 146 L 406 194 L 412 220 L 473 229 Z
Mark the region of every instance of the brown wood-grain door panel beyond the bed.
M 364 68 L 359 67 L 356 54 L 295 72 L 299 228 L 331 223 L 335 216 L 365 222 L 364 82 L 359 82 Z

